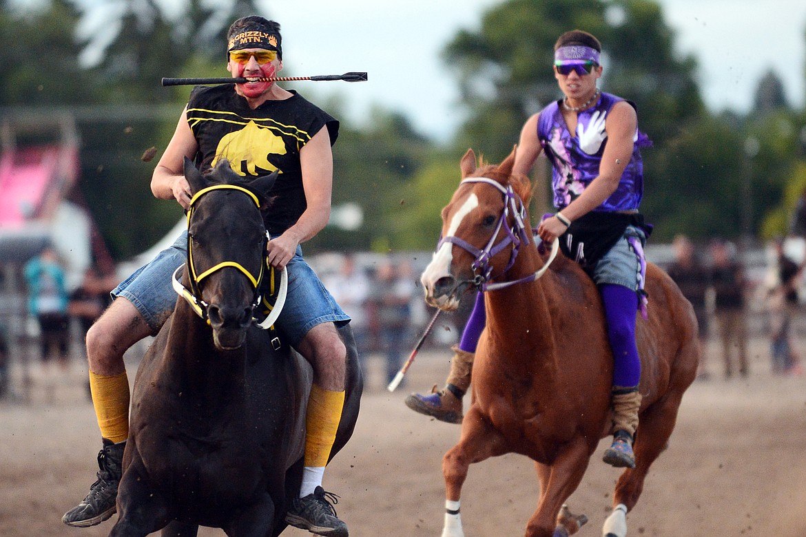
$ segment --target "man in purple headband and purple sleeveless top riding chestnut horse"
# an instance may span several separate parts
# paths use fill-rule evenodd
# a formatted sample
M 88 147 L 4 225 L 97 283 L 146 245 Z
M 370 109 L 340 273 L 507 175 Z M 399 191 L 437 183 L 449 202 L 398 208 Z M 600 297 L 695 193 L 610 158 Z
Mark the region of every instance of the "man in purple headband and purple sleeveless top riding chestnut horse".
M 603 460 L 634 468 L 632 444 L 641 407 L 635 323 L 643 299 L 643 246 L 650 231 L 638 213 L 643 194 L 639 147 L 650 142 L 638 131 L 633 103 L 596 87 L 602 74 L 600 52 L 599 40 L 588 32 L 560 35 L 554 72 L 563 99 L 526 120 L 513 174 L 528 175 L 540 152 L 546 151 L 558 212 L 540 223 L 538 235 L 544 242 L 560 238 L 563 252 L 580 263 L 600 291 L 614 362 L 613 444 Z M 410 394 L 406 405 L 461 423 L 484 317 L 484 293 L 479 293 L 454 348 L 446 386 L 434 386 L 430 394 Z

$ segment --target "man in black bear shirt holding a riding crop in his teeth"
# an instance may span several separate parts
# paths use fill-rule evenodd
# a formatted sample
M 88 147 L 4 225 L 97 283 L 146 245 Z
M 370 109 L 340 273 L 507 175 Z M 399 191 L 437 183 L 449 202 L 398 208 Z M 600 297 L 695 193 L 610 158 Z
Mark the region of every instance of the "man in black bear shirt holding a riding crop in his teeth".
M 344 403 L 347 349 L 336 327 L 347 324 L 350 317 L 302 258 L 300 246 L 330 217 L 330 146 L 339 134 L 339 122 L 296 92 L 256 81 L 276 76 L 283 68 L 278 23 L 259 16 L 238 19 L 227 32 L 227 42 L 226 69 L 247 82 L 193 89 L 154 170 L 152 192 L 189 208 L 190 187 L 182 172 L 185 157 L 202 170 L 227 159 L 245 177 L 280 171 L 269 192 L 273 210 L 265 222 L 272 236 L 268 262 L 289 272 L 288 295 L 276 326 L 314 370 L 305 419 L 302 487 L 286 521 L 318 535 L 347 537 L 347 525 L 326 499 L 322 476 Z M 103 448 L 98 454 L 98 481 L 62 518 L 69 526 L 93 526 L 115 512 L 129 432 L 130 393 L 123 353 L 156 333 L 173 311 L 177 295 L 171 275 L 185 262 L 186 240 L 185 232 L 114 289 L 114 302 L 87 333 L 89 382 Z

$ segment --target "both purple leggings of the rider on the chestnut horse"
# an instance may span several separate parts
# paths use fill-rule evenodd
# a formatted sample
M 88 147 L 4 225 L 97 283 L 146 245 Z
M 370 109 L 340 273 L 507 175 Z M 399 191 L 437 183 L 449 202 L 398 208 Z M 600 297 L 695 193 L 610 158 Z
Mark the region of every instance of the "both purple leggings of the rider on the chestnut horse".
M 641 361 L 635 345 L 635 317 L 638 314 L 638 295 L 621 285 L 600 285 L 599 291 L 605 304 L 608 337 L 613 349 L 613 386 L 638 386 L 641 380 Z M 459 349 L 475 353 L 481 331 L 487 322 L 484 310 L 484 293 L 476 294 L 476 304 L 467 319 L 459 341 Z

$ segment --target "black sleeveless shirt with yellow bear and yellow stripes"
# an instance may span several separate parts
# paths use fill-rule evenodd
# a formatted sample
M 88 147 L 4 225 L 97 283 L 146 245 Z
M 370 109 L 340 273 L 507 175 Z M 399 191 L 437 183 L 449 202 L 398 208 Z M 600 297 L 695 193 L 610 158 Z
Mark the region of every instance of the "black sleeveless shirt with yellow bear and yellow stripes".
M 226 158 L 240 176 L 280 175 L 268 192 L 272 210 L 266 229 L 277 236 L 305 212 L 300 150 L 327 126 L 330 145 L 339 136 L 339 122 L 292 91 L 284 101 L 266 101 L 256 109 L 235 93 L 235 85 L 197 86 L 190 93 L 188 124 L 199 145 L 196 159 L 202 172 Z

